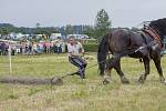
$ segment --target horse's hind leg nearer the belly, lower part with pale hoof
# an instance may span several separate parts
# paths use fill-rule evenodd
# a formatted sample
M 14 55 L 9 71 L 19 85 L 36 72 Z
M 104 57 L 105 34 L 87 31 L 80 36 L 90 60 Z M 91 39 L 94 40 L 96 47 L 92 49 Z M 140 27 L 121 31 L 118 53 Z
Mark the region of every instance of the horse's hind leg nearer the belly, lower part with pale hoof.
M 122 83 L 129 83 L 129 80 L 125 77 L 125 74 L 121 70 L 121 59 L 117 60 L 117 62 L 114 65 L 114 69 L 116 70 L 117 74 L 120 75 Z

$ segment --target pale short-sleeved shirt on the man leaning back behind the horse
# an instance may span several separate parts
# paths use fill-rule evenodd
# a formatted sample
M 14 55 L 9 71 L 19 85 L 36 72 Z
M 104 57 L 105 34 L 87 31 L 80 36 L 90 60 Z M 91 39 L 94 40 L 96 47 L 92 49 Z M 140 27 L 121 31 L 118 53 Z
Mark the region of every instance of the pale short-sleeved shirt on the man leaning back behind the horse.
M 71 53 L 79 54 L 81 49 L 83 49 L 83 47 L 80 42 L 73 46 L 71 43 L 68 43 L 69 57 L 71 57 Z

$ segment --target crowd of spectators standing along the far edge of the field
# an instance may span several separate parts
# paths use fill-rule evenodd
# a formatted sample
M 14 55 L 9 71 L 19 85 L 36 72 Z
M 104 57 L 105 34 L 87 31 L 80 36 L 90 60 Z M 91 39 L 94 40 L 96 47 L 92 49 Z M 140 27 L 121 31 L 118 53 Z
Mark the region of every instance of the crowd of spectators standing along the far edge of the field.
M 53 41 L 39 41 L 39 42 L 0 42 L 0 56 L 7 56 L 11 47 L 11 54 L 41 54 L 41 53 L 63 53 L 66 51 L 66 42 L 58 39 Z

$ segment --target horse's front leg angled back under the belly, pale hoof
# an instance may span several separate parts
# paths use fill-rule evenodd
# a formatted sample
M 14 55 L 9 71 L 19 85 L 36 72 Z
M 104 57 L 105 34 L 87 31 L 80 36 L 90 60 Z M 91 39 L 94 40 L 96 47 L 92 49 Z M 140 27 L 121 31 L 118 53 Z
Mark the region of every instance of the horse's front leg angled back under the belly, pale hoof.
M 144 61 L 144 68 L 145 68 L 145 73 L 141 74 L 138 82 L 144 83 L 146 80 L 147 74 L 149 74 L 149 58 L 148 57 L 144 57 L 143 58 Z

